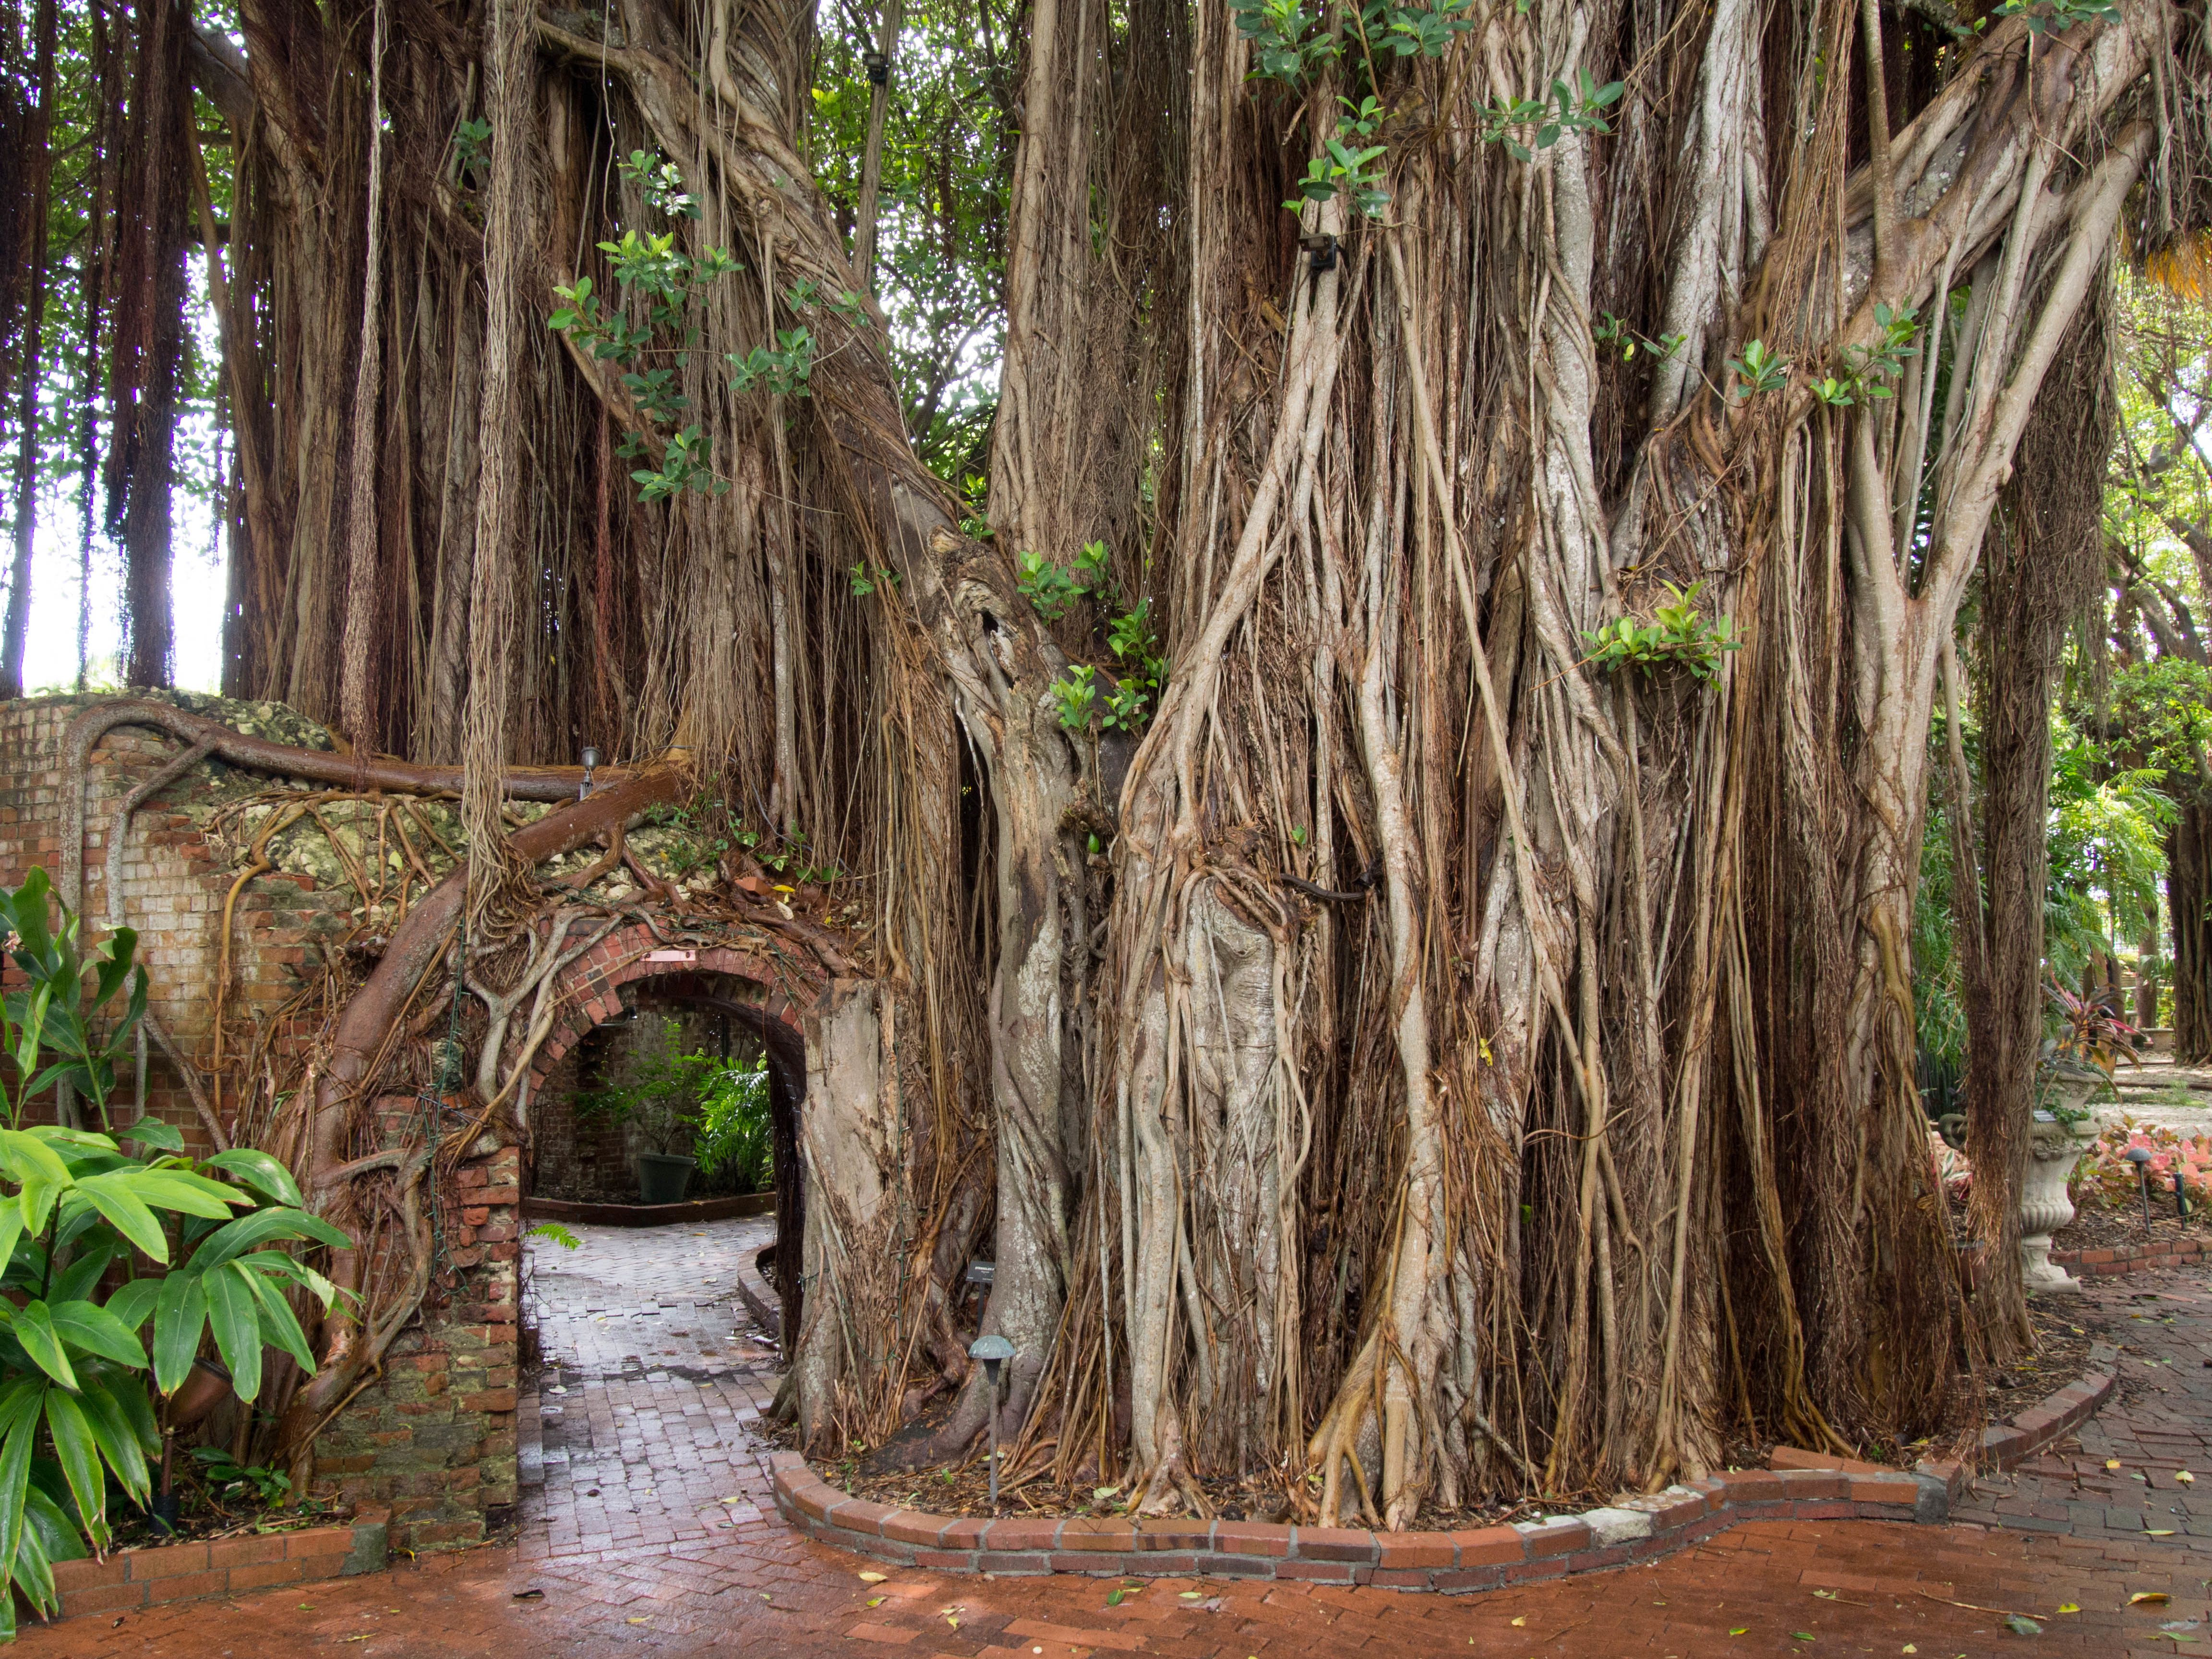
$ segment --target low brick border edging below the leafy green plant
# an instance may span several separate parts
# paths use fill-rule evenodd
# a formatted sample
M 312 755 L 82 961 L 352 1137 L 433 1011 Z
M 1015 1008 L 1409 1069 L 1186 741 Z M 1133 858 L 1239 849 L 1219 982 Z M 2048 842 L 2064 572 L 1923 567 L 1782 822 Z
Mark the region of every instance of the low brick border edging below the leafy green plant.
M 55 1621 L 88 1613 L 135 1613 L 201 1595 L 383 1573 L 389 1524 L 389 1511 L 363 1504 L 352 1522 L 338 1526 L 157 1544 L 115 1551 L 104 1562 L 55 1562 L 53 1588 L 62 1597 Z

